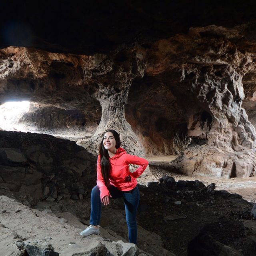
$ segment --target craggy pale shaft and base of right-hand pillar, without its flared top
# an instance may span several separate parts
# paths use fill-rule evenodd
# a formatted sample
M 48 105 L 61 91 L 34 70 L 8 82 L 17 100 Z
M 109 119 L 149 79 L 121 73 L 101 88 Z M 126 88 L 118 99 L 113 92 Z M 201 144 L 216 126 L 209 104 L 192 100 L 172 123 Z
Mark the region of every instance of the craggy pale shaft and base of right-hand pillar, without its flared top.
M 195 66 L 194 66 L 195 67 Z M 194 68 L 183 70 L 184 81 L 192 84 L 193 98 L 188 117 L 188 136 L 204 143 L 191 144 L 172 162 L 174 170 L 184 174 L 249 177 L 255 174 L 256 132 L 241 107 L 244 99 L 242 74 L 230 66 L 221 76 L 214 68 L 204 73 Z M 217 74 L 217 75 L 216 75 Z

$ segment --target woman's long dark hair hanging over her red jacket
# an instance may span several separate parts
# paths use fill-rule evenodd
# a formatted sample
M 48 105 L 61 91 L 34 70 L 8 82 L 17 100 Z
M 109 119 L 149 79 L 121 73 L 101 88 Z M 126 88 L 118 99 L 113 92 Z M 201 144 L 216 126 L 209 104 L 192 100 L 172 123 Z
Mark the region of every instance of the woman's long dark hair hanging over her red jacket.
M 115 140 L 116 140 L 116 149 L 120 148 L 121 146 L 121 141 L 120 141 L 120 136 L 115 130 L 107 130 L 106 132 L 112 132 Z M 100 155 L 100 167 L 101 167 L 101 173 L 105 182 L 105 185 L 109 185 L 109 173 L 111 170 L 111 165 L 110 165 L 110 160 L 109 160 L 109 154 L 108 150 L 104 148 L 103 146 L 103 140 L 104 140 L 104 135 L 106 134 L 104 132 L 103 138 L 100 142 L 99 146 L 99 155 Z

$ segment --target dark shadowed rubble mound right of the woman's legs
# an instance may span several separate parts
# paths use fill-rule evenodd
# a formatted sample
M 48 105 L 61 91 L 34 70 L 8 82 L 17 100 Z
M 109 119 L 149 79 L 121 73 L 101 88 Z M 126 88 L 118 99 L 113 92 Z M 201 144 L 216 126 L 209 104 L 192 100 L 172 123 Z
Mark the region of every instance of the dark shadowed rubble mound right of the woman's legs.
M 161 234 L 166 249 L 180 256 L 221 255 L 209 246 L 212 242 L 204 249 L 200 249 L 202 242 L 194 242 L 206 233 L 214 241 L 243 252 L 242 255 L 254 255 L 250 254 L 251 249 L 245 242 L 248 230 L 242 224 L 243 220 L 252 219 L 252 203 L 238 194 L 214 190 L 214 184 L 205 187 L 199 181 L 175 182 L 174 178 L 162 178 L 160 182 L 150 183 L 146 190 L 141 189 L 144 197 L 138 216 L 144 228 Z M 198 251 L 193 254 L 195 248 Z M 204 254 L 206 251 L 209 254 Z M 231 249 L 224 255 L 233 255 Z

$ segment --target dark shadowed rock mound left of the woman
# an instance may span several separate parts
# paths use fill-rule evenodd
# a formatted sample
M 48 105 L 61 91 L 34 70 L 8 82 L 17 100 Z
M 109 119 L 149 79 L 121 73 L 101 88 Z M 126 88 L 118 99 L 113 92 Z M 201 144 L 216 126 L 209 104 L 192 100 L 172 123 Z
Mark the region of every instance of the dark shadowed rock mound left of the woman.
M 0 191 L 23 204 L 82 199 L 95 182 L 95 164 L 96 158 L 75 142 L 0 131 Z

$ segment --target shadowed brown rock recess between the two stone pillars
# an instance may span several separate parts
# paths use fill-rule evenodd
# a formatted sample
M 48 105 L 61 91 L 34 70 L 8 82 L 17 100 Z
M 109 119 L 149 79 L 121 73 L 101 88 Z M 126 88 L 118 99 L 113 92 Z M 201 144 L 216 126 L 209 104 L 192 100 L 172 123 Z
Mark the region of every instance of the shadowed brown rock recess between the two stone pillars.
M 187 123 L 180 99 L 157 79 L 135 79 L 128 95 L 126 118 L 146 154 L 180 154 L 188 146 Z

